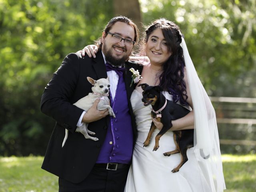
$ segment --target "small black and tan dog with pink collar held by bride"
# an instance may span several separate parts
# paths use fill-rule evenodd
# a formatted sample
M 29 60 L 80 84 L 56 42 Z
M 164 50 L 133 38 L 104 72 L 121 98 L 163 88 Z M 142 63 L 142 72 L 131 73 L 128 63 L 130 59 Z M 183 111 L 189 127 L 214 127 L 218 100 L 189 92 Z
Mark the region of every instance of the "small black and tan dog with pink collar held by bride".
M 158 150 L 160 137 L 165 134 L 172 127 L 172 120 L 176 120 L 186 116 L 190 110 L 182 107 L 181 105 L 167 100 L 162 94 L 163 89 L 160 86 L 149 86 L 148 84 L 139 84 L 143 92 L 142 102 L 144 106 L 151 104 L 152 112 L 151 116 L 157 121 L 163 124 L 162 130 L 156 135 L 155 146 L 153 151 Z M 150 143 L 150 138 L 152 133 L 156 129 L 154 122 L 152 122 L 148 137 L 144 142 L 144 147 L 148 146 Z M 170 156 L 171 154 L 180 153 L 181 162 L 180 164 L 172 170 L 172 172 L 178 172 L 181 166 L 188 161 L 187 149 L 194 146 L 194 129 L 188 130 L 178 130 L 173 131 L 174 142 L 176 144 L 176 149 L 170 152 L 164 153 L 164 156 Z

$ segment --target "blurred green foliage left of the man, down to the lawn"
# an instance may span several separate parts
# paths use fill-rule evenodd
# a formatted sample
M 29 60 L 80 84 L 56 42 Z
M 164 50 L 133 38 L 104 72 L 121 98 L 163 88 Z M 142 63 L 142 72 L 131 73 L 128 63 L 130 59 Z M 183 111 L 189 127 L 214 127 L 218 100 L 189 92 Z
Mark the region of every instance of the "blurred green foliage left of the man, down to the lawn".
M 0 155 L 44 154 L 54 125 L 39 110 L 44 87 L 69 52 L 100 36 L 111 4 L 0 0 Z

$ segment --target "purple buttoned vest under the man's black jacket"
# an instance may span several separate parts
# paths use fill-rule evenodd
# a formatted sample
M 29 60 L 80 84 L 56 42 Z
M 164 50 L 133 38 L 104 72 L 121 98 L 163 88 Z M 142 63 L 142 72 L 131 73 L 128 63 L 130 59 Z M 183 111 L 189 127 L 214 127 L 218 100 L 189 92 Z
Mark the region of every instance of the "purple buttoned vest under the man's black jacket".
M 119 77 L 114 101 L 111 95 L 110 100 L 116 118 L 110 117 L 106 138 L 96 163 L 130 164 L 133 150 L 133 131 L 124 76 Z

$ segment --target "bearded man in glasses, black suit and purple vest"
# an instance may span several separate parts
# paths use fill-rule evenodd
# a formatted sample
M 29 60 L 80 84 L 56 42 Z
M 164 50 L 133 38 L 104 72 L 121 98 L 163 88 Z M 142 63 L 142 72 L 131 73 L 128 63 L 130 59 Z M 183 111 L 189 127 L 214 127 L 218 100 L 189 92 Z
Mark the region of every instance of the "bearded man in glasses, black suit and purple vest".
M 41 111 L 54 118 L 52 132 L 42 168 L 59 177 L 59 191 L 122 192 L 132 158 L 136 124 L 130 96 L 130 68 L 140 66 L 128 62 L 138 41 L 138 28 L 128 18 L 118 16 L 107 24 L 99 40 L 96 58 L 71 53 L 47 84 L 41 99 Z M 73 105 L 92 92 L 86 77 L 110 78 L 110 104 L 116 118 L 108 110 L 97 110 L 98 101 L 87 112 Z M 75 132 L 77 126 L 89 123 L 99 141 L 85 139 Z M 65 129 L 70 134 L 64 147 Z

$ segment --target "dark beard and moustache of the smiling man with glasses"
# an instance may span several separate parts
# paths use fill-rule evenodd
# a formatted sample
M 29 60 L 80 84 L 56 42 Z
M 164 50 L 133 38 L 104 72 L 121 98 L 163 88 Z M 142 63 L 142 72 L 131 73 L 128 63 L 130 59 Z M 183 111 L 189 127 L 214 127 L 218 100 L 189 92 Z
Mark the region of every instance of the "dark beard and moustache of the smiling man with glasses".
M 126 48 L 122 48 L 122 49 L 126 51 Z M 124 55 L 122 58 L 115 58 L 112 53 L 113 52 L 112 47 L 107 49 L 106 46 L 104 46 L 104 44 L 102 45 L 102 52 L 105 55 L 106 61 L 112 64 L 113 66 L 122 66 L 126 62 L 126 60 L 128 60 L 129 58 L 128 55 Z

